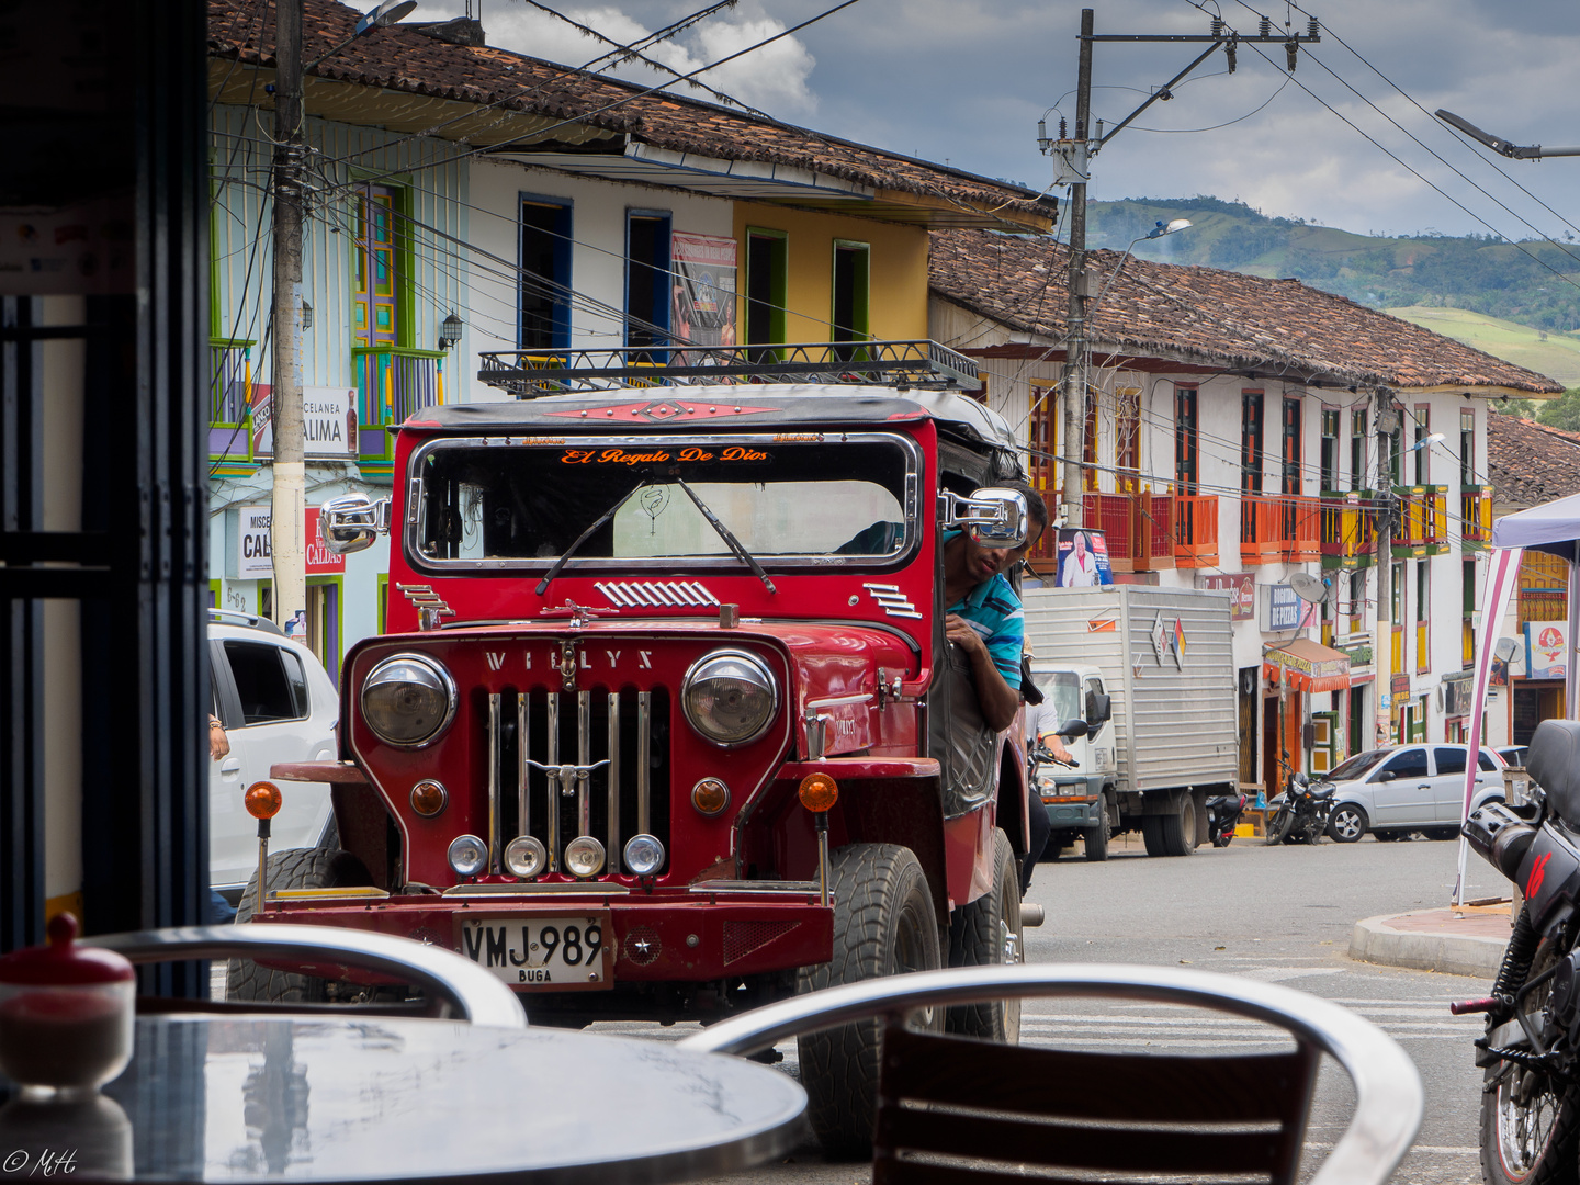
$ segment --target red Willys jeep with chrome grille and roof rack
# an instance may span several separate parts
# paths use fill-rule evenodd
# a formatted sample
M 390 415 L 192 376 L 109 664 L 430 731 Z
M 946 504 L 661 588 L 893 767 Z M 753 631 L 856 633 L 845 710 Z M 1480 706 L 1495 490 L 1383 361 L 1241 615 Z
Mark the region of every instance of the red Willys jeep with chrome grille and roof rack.
M 340 848 L 278 853 L 242 920 L 447 946 L 550 1024 L 1018 959 L 1024 762 L 983 732 L 940 600 L 945 528 L 1025 529 L 991 488 L 1021 476 L 1013 436 L 953 389 L 969 359 L 839 349 L 714 352 L 657 387 L 501 356 L 485 378 L 525 398 L 403 423 L 393 499 L 321 515 L 337 550 L 390 534 L 343 760 L 275 768 L 333 785 Z M 234 965 L 231 992 L 373 991 L 310 970 Z M 1013 1003 L 946 1019 L 1019 1029 Z M 871 1136 L 875 1046 L 801 1041 L 828 1146 Z

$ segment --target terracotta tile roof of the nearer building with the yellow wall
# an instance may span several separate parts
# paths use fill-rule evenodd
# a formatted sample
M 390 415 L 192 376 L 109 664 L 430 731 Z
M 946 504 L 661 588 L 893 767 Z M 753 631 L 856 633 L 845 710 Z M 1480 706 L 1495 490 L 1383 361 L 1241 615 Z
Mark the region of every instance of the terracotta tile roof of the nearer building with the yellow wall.
M 313 62 L 351 36 L 362 14 L 337 0 L 305 0 L 303 58 Z M 209 54 L 243 65 L 275 65 L 273 3 L 210 0 Z M 311 76 L 365 87 L 490 104 L 548 120 L 577 120 L 580 134 L 550 137 L 585 145 L 585 128 L 673 152 L 730 161 L 763 161 L 822 172 L 858 185 L 1000 210 L 1014 224 L 1048 226 L 1051 204 L 1035 191 L 948 169 L 861 144 L 823 136 L 788 123 L 758 118 L 709 103 L 589 74 L 488 46 L 457 46 L 416 28 L 376 30 L 319 63 Z M 684 87 L 684 84 L 676 84 Z M 608 111 L 600 111 L 619 103 Z M 441 133 L 442 134 L 442 133 Z M 487 144 L 487 133 L 468 139 Z M 618 152 L 619 149 L 615 149 Z M 1019 215 L 1019 216 L 1014 216 Z

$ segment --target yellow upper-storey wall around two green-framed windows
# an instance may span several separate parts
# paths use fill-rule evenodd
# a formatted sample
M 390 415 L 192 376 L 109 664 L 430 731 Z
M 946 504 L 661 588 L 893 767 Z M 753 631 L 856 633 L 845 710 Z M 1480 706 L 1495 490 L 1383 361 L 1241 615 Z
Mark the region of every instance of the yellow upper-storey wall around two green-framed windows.
M 834 240 L 867 243 L 867 333 L 878 341 L 927 337 L 927 231 L 867 218 L 735 204 L 741 292 L 736 324 L 746 325 L 746 229 L 784 231 L 790 258 L 785 341 L 828 341 L 834 310 Z

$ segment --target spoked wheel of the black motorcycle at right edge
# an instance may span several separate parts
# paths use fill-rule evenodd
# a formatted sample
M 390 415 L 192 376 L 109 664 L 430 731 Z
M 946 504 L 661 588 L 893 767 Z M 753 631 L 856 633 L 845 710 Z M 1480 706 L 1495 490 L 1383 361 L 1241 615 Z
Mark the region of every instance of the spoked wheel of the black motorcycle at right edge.
M 1556 961 L 1544 943 L 1531 964 L 1534 978 Z M 1539 1011 L 1547 986 L 1526 999 Z M 1510 1066 L 1487 1068 L 1480 1106 L 1480 1161 L 1487 1185 L 1575 1185 L 1580 1177 L 1580 1087 Z

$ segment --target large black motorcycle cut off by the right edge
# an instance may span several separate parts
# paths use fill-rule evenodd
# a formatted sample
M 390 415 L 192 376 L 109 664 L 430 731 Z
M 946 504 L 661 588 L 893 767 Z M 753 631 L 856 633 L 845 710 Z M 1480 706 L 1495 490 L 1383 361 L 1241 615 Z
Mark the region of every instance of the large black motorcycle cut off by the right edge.
M 1487 1014 L 1476 1065 L 1490 1185 L 1574 1182 L 1580 1152 L 1580 724 L 1537 725 L 1525 768 L 1529 795 L 1479 807 L 1462 830 L 1525 891 L 1492 995 L 1449 1006 Z

